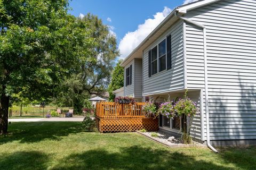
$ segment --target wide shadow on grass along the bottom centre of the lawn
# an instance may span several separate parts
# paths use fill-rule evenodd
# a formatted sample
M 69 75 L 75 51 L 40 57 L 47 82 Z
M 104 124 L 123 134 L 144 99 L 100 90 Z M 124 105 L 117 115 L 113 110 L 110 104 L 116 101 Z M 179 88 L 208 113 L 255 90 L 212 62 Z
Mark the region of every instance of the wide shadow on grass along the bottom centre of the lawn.
M 164 149 L 126 147 L 120 152 L 95 149 L 71 154 L 53 169 L 230 169 L 196 156 Z

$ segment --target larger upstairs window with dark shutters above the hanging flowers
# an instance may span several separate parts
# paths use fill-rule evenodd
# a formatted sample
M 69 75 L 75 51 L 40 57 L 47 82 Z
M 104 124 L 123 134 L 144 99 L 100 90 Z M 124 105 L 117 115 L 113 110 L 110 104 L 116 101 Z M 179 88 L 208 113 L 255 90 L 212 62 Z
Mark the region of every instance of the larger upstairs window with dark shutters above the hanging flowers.
M 171 69 L 171 35 L 148 52 L 148 77 Z

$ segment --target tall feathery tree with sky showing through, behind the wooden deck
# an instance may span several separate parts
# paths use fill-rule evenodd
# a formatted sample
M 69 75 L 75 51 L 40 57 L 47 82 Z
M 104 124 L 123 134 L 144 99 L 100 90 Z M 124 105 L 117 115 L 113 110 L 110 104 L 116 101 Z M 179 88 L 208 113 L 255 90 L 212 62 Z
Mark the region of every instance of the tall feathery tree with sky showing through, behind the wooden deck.
M 101 19 L 89 13 L 79 20 L 89 24 L 90 37 L 94 40 L 90 52 L 94 60 L 82 63 L 71 78 L 63 81 L 55 99 L 59 104 L 74 107 L 76 113 L 86 107 L 86 98 L 93 94 L 102 96 L 107 91 L 116 56 L 119 55 L 116 37 Z

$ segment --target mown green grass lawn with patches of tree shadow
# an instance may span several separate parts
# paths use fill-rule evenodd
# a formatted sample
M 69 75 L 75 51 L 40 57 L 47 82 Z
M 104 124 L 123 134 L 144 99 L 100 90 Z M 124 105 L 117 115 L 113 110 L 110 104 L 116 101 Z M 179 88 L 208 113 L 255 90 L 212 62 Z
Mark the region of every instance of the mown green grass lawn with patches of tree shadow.
M 14 122 L 0 169 L 255 169 L 256 147 L 166 148 L 137 133 L 84 132 L 78 122 Z

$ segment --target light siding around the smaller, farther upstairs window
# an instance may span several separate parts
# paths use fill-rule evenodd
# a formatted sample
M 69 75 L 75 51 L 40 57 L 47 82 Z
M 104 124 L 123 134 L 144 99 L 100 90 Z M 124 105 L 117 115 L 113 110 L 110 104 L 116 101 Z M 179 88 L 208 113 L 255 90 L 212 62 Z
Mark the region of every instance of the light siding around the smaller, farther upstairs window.
M 126 84 L 126 72 L 127 67 L 132 65 L 132 84 L 125 86 Z M 124 96 L 133 96 L 134 97 L 134 60 L 131 61 L 124 67 Z

